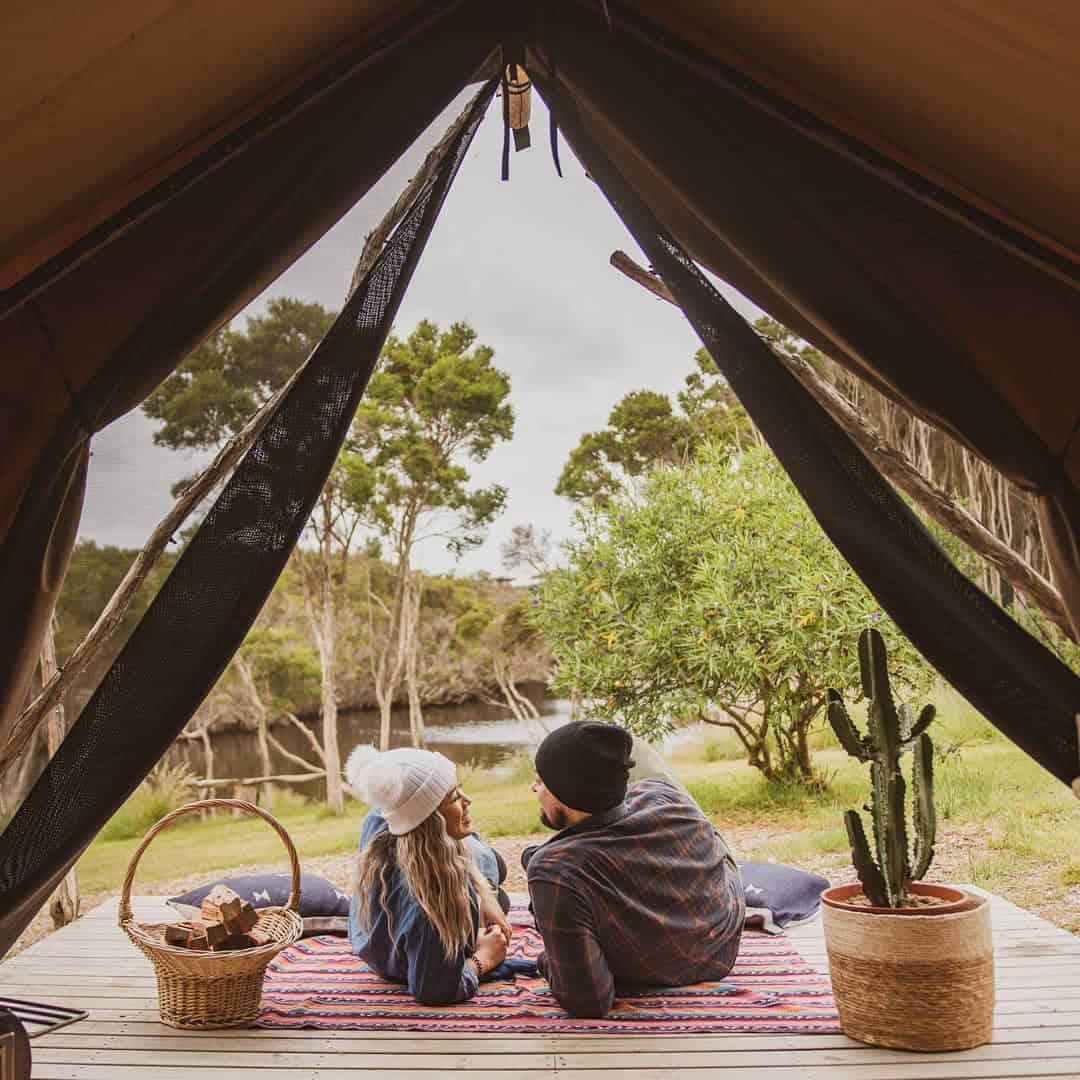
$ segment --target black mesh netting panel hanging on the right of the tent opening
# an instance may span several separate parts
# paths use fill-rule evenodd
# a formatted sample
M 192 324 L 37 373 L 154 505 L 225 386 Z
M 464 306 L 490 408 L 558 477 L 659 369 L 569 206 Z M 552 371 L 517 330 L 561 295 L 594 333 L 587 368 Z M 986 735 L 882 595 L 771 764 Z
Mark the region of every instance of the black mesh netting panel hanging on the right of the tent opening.
M 1080 678 L 956 569 L 848 434 L 657 221 L 572 109 L 558 120 L 852 569 L 960 693 L 1069 784 L 1080 772 Z

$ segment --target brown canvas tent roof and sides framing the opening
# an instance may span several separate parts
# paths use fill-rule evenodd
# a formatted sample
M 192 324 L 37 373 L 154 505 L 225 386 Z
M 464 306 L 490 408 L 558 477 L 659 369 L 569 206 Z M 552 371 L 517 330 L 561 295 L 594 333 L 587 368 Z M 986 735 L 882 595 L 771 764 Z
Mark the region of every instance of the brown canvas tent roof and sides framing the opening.
M 0 40 L 0 743 L 90 436 L 500 49 L 694 258 L 1035 492 L 1080 621 L 1076 5 L 41 0 Z

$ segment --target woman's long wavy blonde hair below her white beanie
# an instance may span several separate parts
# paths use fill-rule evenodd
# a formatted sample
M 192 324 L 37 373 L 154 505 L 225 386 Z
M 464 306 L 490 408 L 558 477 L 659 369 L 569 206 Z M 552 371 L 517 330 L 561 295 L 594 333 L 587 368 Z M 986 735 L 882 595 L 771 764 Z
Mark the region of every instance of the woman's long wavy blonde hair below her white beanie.
M 393 836 L 389 829 L 379 833 L 360 853 L 356 900 L 362 929 L 372 929 L 378 896 L 393 932 L 387 893 L 395 866 L 435 928 L 447 958 L 453 959 L 461 949 L 469 950 L 473 945 L 473 921 L 468 882 L 478 888 L 478 874 L 465 846 L 447 833 L 437 810 L 402 836 Z

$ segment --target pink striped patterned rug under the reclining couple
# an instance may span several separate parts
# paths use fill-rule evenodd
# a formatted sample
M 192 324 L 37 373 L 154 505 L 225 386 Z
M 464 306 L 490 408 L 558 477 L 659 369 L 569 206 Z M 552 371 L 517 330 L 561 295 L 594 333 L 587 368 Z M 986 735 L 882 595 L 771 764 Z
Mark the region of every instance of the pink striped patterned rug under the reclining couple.
M 511 913 L 513 956 L 542 950 L 531 916 Z M 828 976 L 783 935 L 747 931 L 723 983 L 698 983 L 618 998 L 605 1020 L 567 1015 L 539 977 L 482 983 L 471 1001 L 422 1005 L 379 978 L 341 937 L 308 937 L 280 953 L 262 984 L 260 1027 L 337 1030 L 559 1032 L 742 1031 L 835 1035 L 840 1027 Z

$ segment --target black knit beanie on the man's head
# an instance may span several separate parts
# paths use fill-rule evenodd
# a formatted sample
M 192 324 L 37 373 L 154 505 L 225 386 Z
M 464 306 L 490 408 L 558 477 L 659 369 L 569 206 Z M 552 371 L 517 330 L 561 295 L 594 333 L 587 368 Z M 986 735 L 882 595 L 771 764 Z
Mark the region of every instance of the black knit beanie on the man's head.
M 571 810 L 610 810 L 626 797 L 633 745 L 630 732 L 612 724 L 575 720 L 540 743 L 537 775 Z

